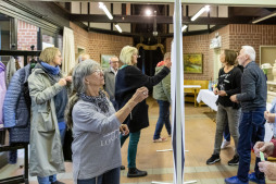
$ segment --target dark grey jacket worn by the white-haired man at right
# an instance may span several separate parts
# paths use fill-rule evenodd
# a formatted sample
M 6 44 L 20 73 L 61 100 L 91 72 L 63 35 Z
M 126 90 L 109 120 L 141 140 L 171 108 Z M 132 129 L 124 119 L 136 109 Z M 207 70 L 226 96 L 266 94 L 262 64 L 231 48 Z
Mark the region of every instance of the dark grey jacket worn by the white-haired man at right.
M 263 71 L 251 61 L 247 64 L 241 76 L 241 93 L 237 100 L 241 103 L 242 111 L 252 111 L 266 107 L 267 86 Z

